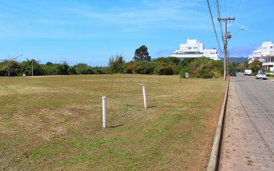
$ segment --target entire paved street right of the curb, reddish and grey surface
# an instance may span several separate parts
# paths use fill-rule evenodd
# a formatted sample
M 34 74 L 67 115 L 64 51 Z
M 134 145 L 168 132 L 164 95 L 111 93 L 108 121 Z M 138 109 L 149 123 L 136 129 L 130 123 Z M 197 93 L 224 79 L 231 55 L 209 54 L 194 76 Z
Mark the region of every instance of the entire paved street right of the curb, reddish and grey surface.
M 232 77 L 219 169 L 274 170 L 273 81 Z

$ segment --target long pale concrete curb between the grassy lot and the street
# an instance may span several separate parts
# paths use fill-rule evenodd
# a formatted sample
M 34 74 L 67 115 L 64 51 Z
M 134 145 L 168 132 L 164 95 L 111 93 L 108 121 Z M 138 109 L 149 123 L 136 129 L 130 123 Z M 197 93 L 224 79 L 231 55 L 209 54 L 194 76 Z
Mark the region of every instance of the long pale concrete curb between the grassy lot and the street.
M 223 106 L 214 137 L 214 142 L 210 154 L 210 161 L 208 162 L 208 171 L 219 170 L 219 159 L 221 153 L 221 144 L 223 140 L 223 124 L 225 122 L 225 109 L 227 108 L 227 94 L 229 89 L 229 77 L 227 81 L 227 90 L 225 91 L 225 97 L 223 98 Z

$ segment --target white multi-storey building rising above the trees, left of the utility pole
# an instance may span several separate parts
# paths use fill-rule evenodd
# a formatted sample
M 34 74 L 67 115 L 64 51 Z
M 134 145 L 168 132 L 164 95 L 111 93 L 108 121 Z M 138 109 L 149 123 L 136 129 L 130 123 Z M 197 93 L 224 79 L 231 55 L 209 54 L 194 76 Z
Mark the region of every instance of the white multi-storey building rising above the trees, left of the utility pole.
M 205 49 L 203 43 L 196 39 L 187 39 L 186 44 L 180 44 L 179 50 L 171 53 L 171 57 L 179 57 L 181 59 L 209 57 L 212 60 L 220 60 L 220 55 L 216 49 Z

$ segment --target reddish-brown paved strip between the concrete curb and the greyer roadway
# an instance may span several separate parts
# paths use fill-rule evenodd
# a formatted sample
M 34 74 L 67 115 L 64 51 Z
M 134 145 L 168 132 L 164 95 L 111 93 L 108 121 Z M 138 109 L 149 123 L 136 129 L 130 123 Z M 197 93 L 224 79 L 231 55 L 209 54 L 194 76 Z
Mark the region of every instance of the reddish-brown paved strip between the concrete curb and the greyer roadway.
M 242 106 L 234 78 L 229 83 L 219 170 L 274 170 L 273 154 Z

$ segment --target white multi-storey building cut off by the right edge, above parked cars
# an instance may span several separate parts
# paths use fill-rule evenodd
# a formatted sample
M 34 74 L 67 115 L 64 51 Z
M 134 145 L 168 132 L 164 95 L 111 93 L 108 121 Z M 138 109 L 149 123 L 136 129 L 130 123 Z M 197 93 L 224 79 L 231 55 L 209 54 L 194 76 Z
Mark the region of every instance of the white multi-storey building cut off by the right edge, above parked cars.
M 262 45 L 249 55 L 249 63 L 260 60 L 266 70 L 274 71 L 274 44 L 273 42 L 262 42 Z

